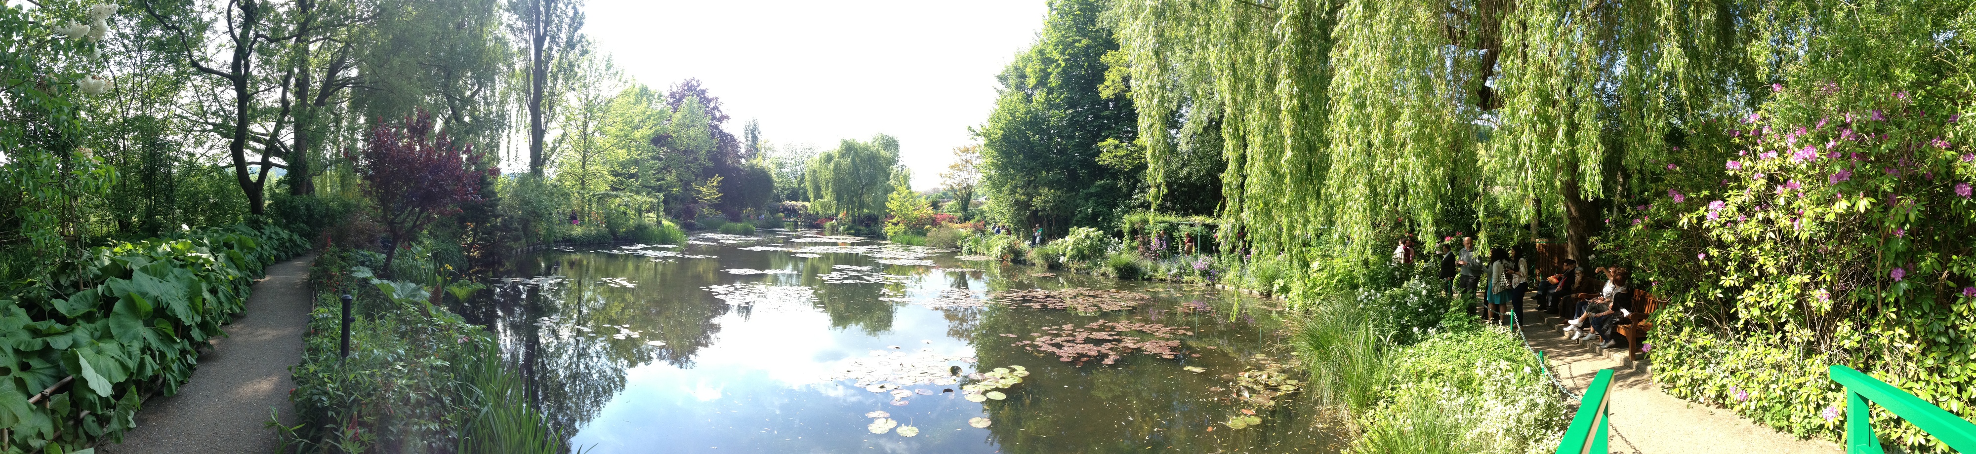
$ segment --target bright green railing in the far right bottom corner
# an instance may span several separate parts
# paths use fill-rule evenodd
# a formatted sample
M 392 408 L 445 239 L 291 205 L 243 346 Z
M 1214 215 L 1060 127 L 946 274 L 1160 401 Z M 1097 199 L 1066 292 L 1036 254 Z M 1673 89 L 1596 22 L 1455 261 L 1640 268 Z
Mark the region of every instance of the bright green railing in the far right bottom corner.
M 1976 424 L 1962 420 L 1954 413 L 1942 411 L 1921 397 L 1909 395 L 1885 381 L 1853 371 L 1846 365 L 1832 365 L 1832 381 L 1846 387 L 1846 452 L 1848 454 L 1881 454 L 1879 436 L 1873 434 L 1873 420 L 1865 407 L 1867 401 L 1893 413 L 1923 432 L 1942 440 L 1948 448 L 1956 452 L 1976 454 Z

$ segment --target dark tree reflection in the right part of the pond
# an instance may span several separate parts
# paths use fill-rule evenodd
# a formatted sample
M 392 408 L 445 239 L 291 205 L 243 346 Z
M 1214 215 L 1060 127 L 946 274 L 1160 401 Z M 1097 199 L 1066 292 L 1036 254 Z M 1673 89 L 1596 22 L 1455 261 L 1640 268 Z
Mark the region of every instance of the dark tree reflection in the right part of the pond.
M 1320 407 L 1302 399 L 1284 401 L 1276 411 L 1263 413 L 1269 422 L 1261 428 L 1231 430 L 1221 424 L 1241 407 L 1219 399 L 1229 391 L 1215 393 L 1209 387 L 1227 389 L 1229 379 L 1221 375 L 1241 371 L 1247 363 L 1239 357 L 1269 345 L 1273 336 L 1213 314 L 1174 314 L 1168 306 L 1172 302 L 1162 298 L 1152 308 L 1103 316 L 992 306 L 974 316 L 972 336 L 980 340 L 974 341 L 978 367 L 1026 365 L 1031 373 L 1008 401 L 986 403 L 994 420 L 988 426 L 990 440 L 1010 454 L 1334 450 L 1328 446 L 1332 436 L 1312 424 L 1320 420 L 1316 418 Z M 1186 351 L 1201 357 L 1160 359 L 1130 353 L 1118 365 L 1073 367 L 1010 345 L 1051 326 L 1134 316 L 1150 322 L 1156 310 L 1164 310 L 1162 324 L 1194 326 L 1195 336 L 1186 338 L 1190 345 Z M 1194 345 L 1219 345 L 1219 349 Z M 1188 373 L 1180 365 L 1207 367 L 1209 373 Z M 1209 426 L 1215 432 L 1207 432 Z

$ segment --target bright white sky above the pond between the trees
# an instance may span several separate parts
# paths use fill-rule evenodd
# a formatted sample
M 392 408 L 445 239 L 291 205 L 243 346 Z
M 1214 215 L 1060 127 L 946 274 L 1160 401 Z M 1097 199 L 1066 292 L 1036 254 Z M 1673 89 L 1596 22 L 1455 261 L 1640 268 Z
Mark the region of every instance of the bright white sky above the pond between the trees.
M 1045 0 L 589 0 L 585 34 L 654 89 L 700 77 L 741 134 L 777 146 L 899 138 L 913 188 L 939 184 L 994 75 L 1043 28 Z

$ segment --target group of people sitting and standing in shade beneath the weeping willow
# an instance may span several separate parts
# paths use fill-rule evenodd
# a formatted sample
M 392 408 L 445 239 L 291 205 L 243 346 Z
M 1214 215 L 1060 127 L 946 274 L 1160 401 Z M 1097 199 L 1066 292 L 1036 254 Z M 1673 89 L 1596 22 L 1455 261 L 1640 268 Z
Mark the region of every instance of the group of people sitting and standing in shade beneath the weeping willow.
M 1474 298 L 1480 292 L 1482 320 L 1488 324 L 1516 324 L 1523 310 L 1523 296 L 1535 290 L 1537 310 L 1549 312 L 1569 308 L 1565 332 L 1571 340 L 1599 336 L 1605 347 L 1618 345 L 1616 330 L 1624 318 L 1632 316 L 1632 292 L 1628 282 L 1632 272 L 1624 266 L 1605 266 L 1593 274 L 1605 274 L 1606 284 L 1599 294 L 1583 294 L 1579 286 L 1579 263 L 1565 259 L 1557 274 L 1533 278 L 1527 247 L 1478 251 L 1474 237 L 1462 237 L 1460 249 L 1441 247 L 1442 290 L 1456 298 Z M 1413 261 L 1413 241 L 1401 239 L 1393 251 L 1399 263 Z

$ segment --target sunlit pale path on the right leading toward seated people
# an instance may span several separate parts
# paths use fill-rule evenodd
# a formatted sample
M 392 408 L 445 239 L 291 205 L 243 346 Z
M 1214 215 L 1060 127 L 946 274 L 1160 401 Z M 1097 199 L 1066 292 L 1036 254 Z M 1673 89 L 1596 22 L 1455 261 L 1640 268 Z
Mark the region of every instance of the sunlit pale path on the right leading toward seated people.
M 1533 304 L 1525 302 L 1525 308 Z M 1628 454 L 1769 454 L 1769 452 L 1844 452 L 1836 442 L 1798 440 L 1792 434 L 1759 426 L 1725 409 L 1676 399 L 1660 391 L 1648 375 L 1646 361 L 1628 363 L 1618 353 L 1601 353 L 1595 343 L 1563 338 L 1563 322 L 1525 312 L 1523 330 L 1529 343 L 1543 351 L 1553 373 L 1573 393 L 1585 393 L 1601 369 L 1612 369 L 1612 436 L 1608 448 Z

